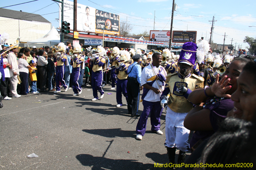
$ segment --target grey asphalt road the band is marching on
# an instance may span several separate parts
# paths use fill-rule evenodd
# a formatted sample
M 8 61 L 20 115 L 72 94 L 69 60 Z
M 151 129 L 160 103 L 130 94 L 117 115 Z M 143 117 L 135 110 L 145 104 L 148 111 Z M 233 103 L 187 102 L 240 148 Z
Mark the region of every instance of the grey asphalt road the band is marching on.
M 152 133 L 148 120 L 146 134 L 136 140 L 139 118 L 127 115 L 125 105 L 116 107 L 116 90 L 110 87 L 106 85 L 104 98 L 96 101 L 91 101 L 91 87 L 79 96 L 72 96 L 72 89 L 61 89 L 57 94 L 4 100 L 0 109 L 0 169 L 165 169 L 154 167 L 168 162 L 165 113 L 160 128 L 164 135 Z M 139 113 L 142 110 L 140 103 Z M 27 158 L 31 153 L 38 158 Z

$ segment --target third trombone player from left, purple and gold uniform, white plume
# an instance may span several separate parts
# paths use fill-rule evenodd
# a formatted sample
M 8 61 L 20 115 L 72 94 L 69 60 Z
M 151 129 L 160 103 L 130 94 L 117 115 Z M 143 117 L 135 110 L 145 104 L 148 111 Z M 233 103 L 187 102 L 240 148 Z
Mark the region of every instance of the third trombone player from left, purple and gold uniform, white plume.
M 103 57 L 106 51 L 102 46 L 98 46 L 97 49 L 95 50 L 95 54 L 97 53 L 100 53 L 100 54 L 96 55 L 90 61 L 90 67 L 92 68 L 91 84 L 92 84 L 92 91 L 93 91 L 93 97 L 94 97 L 92 101 L 99 99 L 97 91 L 100 92 L 100 99 L 104 97 L 104 91 L 102 89 L 102 82 L 103 82 L 102 66 L 104 66 L 106 63 L 106 60 Z

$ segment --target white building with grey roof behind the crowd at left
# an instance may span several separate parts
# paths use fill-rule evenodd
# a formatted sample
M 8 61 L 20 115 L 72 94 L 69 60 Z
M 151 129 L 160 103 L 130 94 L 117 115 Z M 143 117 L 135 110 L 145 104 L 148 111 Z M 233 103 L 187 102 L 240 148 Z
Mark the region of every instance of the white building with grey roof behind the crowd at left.
M 6 41 L 9 45 L 38 39 L 52 28 L 52 23 L 41 15 L 4 8 L 0 8 L 0 24 L 0 34 L 10 35 Z

